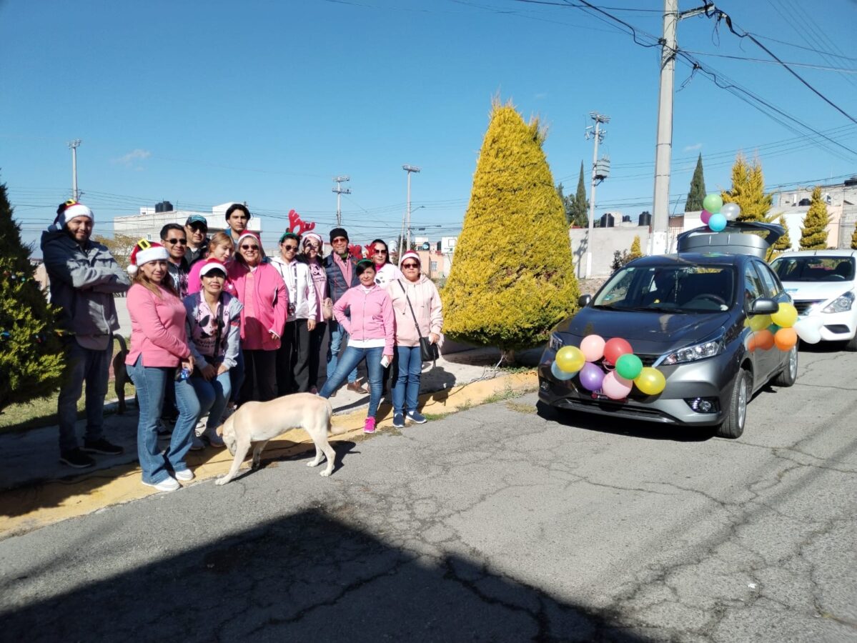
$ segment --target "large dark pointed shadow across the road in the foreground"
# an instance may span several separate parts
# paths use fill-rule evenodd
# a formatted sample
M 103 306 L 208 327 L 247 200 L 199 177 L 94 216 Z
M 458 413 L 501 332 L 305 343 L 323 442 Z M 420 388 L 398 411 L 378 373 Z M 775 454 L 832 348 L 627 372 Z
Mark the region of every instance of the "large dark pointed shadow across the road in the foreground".
M 44 597 L 39 570 L 7 578 L 3 640 L 646 641 L 464 558 L 391 547 L 346 525 L 352 511 L 303 511 L 50 598 L 22 598 Z

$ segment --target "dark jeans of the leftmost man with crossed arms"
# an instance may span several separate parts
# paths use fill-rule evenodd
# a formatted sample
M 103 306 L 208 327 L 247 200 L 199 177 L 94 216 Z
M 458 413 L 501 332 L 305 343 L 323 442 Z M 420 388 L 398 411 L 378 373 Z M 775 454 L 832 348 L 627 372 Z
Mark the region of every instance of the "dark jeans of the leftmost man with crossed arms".
M 83 383 L 87 383 L 87 440 L 102 438 L 104 431 L 105 395 L 113 356 L 113 337 L 104 350 L 83 348 L 74 337 L 69 343 L 67 379 L 59 390 L 57 421 L 59 422 L 59 450 L 75 450 L 77 444 L 77 401 L 81 399 Z

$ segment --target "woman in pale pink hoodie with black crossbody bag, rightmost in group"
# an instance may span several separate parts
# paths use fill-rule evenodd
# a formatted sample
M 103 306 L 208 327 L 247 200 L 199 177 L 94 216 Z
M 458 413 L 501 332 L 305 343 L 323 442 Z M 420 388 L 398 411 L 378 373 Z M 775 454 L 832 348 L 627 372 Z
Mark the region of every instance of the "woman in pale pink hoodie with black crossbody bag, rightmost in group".
M 434 283 L 420 272 L 420 255 L 409 250 L 399 267 L 405 275 L 387 284 L 396 316 L 396 384 L 393 386 L 393 426 L 405 426 L 405 419 L 417 424 L 426 421 L 417 410 L 423 357 L 420 336 L 433 344 L 440 342 L 443 305 Z

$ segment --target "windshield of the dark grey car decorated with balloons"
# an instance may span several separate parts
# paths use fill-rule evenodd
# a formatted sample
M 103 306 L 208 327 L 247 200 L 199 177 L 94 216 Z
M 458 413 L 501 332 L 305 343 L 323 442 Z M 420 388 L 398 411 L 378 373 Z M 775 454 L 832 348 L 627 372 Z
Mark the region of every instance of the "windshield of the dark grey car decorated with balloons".
M 704 313 L 726 311 L 733 300 L 732 266 L 655 265 L 617 271 L 592 305 L 612 310 Z

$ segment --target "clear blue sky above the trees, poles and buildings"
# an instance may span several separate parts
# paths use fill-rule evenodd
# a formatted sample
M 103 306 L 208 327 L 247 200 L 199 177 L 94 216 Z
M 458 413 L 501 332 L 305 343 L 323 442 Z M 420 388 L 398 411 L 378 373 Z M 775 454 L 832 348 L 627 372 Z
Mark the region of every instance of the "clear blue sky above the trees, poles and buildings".
M 643 42 L 661 33 L 661 0 L 600 6 L 638 27 Z M 695 6 L 680 0 L 682 10 Z M 854 0 L 718 7 L 784 61 L 851 71 L 794 67 L 857 115 Z M 778 65 L 710 56 L 770 60 L 715 27 L 705 17 L 681 21 L 680 48 L 850 151 L 796 135 L 679 63 L 670 187 L 679 211 L 698 152 L 710 191 L 728 188 L 741 149 L 758 153 L 770 188 L 857 174 L 857 125 Z M 412 178 L 414 226 L 425 227 L 416 234 L 436 239 L 460 228 L 499 95 L 548 124 L 545 151 L 566 192 L 581 161 L 591 162 L 589 112 L 611 116 L 602 151 L 613 171 L 597 210 L 636 219 L 651 203 L 658 56 L 567 4 L 0 0 L 0 181 L 27 239 L 36 238 L 69 196 L 66 142 L 81 139 L 81 200 L 96 212 L 97 232 L 160 199 L 196 209 L 246 200 L 271 242 L 291 208 L 327 232 L 332 177 L 349 175 L 344 222 L 352 241 L 366 242 L 398 235 L 401 166 L 413 164 L 423 169 Z

